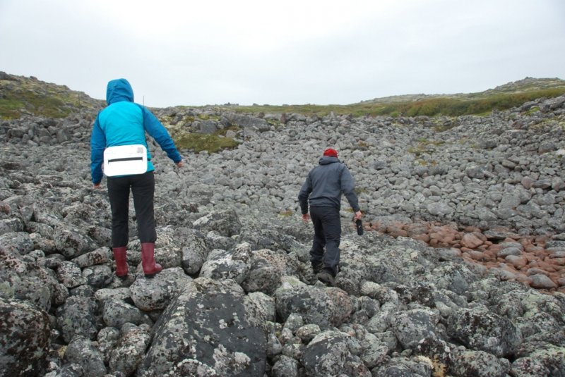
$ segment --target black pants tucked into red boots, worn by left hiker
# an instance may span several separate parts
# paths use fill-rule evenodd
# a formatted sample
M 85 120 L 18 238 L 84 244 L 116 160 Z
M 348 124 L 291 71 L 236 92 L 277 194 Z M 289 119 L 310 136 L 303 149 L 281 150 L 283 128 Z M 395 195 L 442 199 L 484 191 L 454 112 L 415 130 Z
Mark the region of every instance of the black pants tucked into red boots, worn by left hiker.
M 129 191 L 133 194 L 136 209 L 139 240 L 155 242 L 155 214 L 153 195 L 155 175 L 153 171 L 124 177 L 108 177 L 108 197 L 112 208 L 112 247 L 124 247 L 129 242 Z

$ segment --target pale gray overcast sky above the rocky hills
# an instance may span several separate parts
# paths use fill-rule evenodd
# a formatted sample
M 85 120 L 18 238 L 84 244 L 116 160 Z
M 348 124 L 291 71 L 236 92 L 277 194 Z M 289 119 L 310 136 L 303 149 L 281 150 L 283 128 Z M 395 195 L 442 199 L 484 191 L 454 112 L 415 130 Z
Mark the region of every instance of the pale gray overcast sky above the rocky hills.
M 481 92 L 565 78 L 565 1 L 0 0 L 0 70 L 155 107 Z

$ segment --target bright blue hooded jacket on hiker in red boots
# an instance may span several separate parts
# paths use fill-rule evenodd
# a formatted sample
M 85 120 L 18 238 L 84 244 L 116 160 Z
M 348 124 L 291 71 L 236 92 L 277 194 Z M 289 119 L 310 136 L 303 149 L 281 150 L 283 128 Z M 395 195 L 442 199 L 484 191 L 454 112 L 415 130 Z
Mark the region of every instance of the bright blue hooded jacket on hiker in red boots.
M 120 78 L 108 82 L 106 102 L 108 106 L 98 113 L 90 135 L 90 175 L 94 184 L 102 180 L 104 150 L 131 144 L 147 147 L 145 132 L 155 139 L 174 163 L 182 160 L 167 129 L 145 106 L 133 102 L 133 89 L 128 80 Z M 155 167 L 148 149 L 147 171 L 153 170 Z

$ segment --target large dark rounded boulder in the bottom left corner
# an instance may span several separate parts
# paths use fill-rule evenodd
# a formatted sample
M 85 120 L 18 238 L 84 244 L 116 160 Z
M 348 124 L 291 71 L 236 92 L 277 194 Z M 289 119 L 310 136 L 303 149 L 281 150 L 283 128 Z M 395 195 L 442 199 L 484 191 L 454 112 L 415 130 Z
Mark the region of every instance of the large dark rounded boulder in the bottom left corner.
M 47 364 L 51 324 L 29 302 L 0 297 L 0 376 L 35 376 Z

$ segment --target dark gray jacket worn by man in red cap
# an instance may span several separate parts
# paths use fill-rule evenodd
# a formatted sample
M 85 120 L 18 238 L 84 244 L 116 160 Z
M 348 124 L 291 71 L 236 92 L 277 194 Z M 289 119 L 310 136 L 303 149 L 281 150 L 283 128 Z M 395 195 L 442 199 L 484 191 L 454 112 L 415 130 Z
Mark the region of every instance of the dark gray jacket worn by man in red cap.
M 319 165 L 308 173 L 298 194 L 302 214 L 308 213 L 308 202 L 311 206 L 332 206 L 340 209 L 342 193 L 353 211 L 359 211 L 355 180 L 349 169 L 337 157 L 323 156 Z

